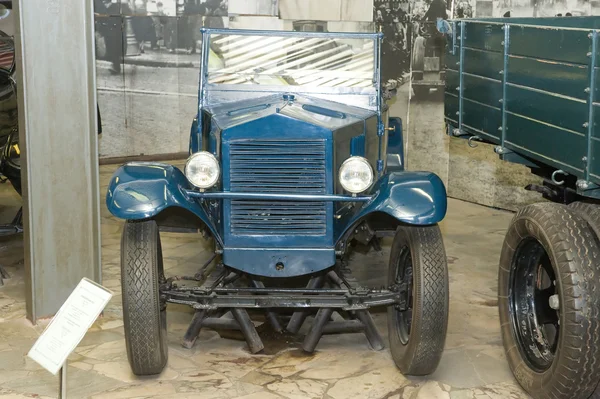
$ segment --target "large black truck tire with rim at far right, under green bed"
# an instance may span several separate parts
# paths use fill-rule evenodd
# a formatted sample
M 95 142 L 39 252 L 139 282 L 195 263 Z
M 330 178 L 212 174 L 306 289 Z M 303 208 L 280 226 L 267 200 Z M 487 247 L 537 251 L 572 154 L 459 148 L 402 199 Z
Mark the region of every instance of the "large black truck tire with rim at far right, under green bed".
M 597 385 L 599 260 L 592 231 L 564 205 L 526 206 L 509 226 L 498 275 L 502 340 L 534 398 L 588 398 Z

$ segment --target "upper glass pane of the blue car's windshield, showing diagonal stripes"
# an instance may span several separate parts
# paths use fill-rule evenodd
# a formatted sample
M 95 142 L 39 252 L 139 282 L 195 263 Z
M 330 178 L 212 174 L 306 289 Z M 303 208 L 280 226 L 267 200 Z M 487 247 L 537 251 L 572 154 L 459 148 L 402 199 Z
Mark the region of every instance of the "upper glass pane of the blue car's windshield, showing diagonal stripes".
M 374 39 L 210 35 L 209 84 L 373 87 Z

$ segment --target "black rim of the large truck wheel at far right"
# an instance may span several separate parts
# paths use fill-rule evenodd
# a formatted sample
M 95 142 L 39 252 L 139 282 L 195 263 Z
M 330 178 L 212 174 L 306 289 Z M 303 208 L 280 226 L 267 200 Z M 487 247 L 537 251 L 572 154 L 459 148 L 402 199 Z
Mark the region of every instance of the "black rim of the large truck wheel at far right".
M 532 237 L 523 240 L 515 251 L 510 273 L 511 325 L 523 359 L 538 372 L 550 368 L 558 345 L 559 309 L 550 306 L 551 297 L 557 294 L 556 276 L 546 250 Z

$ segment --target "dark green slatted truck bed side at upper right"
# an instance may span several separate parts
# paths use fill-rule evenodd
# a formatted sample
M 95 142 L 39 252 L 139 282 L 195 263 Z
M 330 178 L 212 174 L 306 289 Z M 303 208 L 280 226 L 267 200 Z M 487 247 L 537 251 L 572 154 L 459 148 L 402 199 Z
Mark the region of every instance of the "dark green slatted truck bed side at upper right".
M 575 176 L 580 194 L 599 197 L 600 17 L 450 24 L 449 133 L 495 143 L 507 161 Z

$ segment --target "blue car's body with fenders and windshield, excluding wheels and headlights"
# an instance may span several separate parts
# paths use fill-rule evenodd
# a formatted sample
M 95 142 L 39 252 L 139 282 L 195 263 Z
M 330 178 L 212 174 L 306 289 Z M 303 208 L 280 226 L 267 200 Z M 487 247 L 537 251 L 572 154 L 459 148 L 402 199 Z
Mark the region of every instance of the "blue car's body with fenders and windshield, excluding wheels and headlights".
M 404 171 L 402 121 L 388 122 L 381 104 L 379 34 L 203 34 L 199 110 L 189 151 L 213 154 L 220 179 L 199 190 L 174 166 L 126 164 L 109 185 L 113 215 L 162 222 L 169 210 L 185 210 L 215 237 L 226 266 L 265 277 L 306 275 L 335 265 L 361 223 L 377 219 L 377 228 L 395 229 L 400 223 L 442 220 L 441 180 Z M 315 65 L 329 65 L 329 56 L 348 57 L 340 64 L 348 67 L 333 73 L 316 68 L 315 79 L 302 68 L 281 66 L 286 61 L 269 58 L 261 48 L 276 46 L 278 36 L 289 43 L 284 50 L 292 51 L 292 64 L 297 54 L 308 54 Z M 320 47 L 326 48 L 325 58 L 314 54 Z M 223 57 L 209 65 L 208 54 L 216 51 Z M 261 75 L 269 68 L 275 72 Z M 298 86 L 303 80 L 320 86 Z M 339 182 L 341 165 L 352 156 L 365 158 L 373 170 L 374 184 L 365 193 L 350 194 Z

